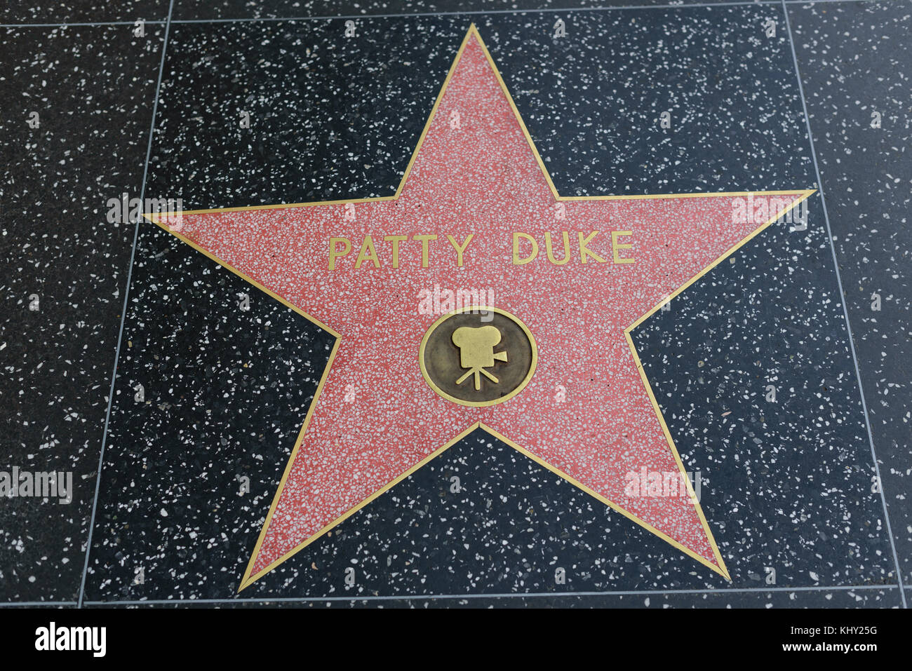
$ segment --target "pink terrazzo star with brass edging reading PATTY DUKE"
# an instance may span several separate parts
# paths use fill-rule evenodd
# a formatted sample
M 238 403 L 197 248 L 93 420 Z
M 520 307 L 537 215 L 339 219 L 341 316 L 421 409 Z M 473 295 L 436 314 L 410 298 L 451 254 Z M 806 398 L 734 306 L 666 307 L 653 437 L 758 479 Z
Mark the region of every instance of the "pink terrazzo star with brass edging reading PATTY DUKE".
M 728 578 L 689 482 L 629 487 L 684 478 L 630 333 L 812 192 L 561 196 L 472 26 L 394 196 L 147 215 L 337 337 L 240 589 L 476 428 Z

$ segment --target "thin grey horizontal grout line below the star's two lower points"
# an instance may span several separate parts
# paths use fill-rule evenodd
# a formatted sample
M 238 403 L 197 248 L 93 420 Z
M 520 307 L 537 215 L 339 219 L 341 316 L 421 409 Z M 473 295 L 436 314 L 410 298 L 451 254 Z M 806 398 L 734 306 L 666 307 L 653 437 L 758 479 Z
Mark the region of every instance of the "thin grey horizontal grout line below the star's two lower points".
M 385 594 L 382 596 L 280 596 L 261 599 L 147 599 L 144 601 L 87 601 L 87 605 L 183 605 L 183 604 L 278 604 L 358 601 L 435 601 L 440 599 L 525 599 L 574 596 L 641 596 L 665 594 L 768 594 L 771 592 L 852 592 L 855 590 L 895 590 L 895 584 L 837 585 L 831 587 L 750 587 L 707 590 L 623 590 L 609 592 L 515 592 L 500 594 Z

